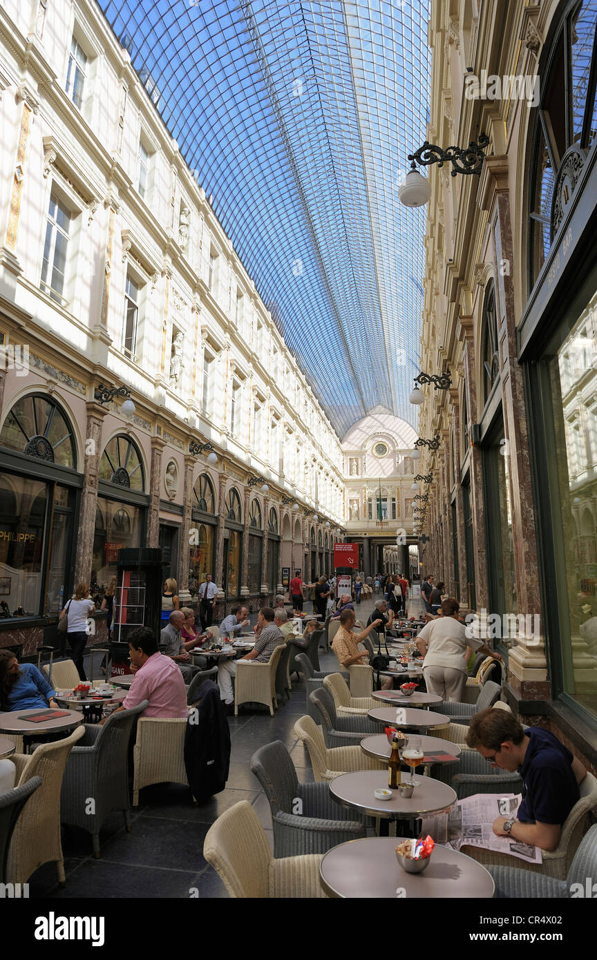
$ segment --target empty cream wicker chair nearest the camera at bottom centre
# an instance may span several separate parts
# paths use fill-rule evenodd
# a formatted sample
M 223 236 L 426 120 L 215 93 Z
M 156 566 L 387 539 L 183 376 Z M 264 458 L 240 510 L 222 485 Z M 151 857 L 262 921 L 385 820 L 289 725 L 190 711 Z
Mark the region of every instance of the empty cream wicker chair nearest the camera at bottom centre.
M 275 859 L 264 828 L 246 800 L 226 810 L 207 830 L 203 856 L 222 877 L 230 897 L 323 898 L 322 853 Z

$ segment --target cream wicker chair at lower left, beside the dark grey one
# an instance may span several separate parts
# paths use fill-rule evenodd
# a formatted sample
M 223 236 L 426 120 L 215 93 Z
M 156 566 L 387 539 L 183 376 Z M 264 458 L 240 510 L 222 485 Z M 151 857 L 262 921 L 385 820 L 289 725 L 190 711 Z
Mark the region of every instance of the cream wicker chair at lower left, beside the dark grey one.
M 59 883 L 64 883 L 64 858 L 60 844 L 60 788 L 68 755 L 84 736 L 77 727 L 63 740 L 40 743 L 33 754 L 12 754 L 16 786 L 34 777 L 41 786 L 25 806 L 12 833 L 7 867 L 8 882 L 26 883 L 29 877 L 51 860 L 56 861 Z

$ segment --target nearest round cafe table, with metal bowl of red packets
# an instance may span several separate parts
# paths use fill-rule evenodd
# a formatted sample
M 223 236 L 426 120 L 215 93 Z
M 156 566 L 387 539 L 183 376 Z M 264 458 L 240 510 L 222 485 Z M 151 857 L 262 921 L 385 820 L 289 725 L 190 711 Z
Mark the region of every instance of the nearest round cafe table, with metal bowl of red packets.
M 328 897 L 406 900 L 490 900 L 493 878 L 465 853 L 435 847 L 422 874 L 407 874 L 395 856 L 399 837 L 363 837 L 325 853 L 320 864 L 322 888 Z M 398 894 L 399 891 L 399 894 Z

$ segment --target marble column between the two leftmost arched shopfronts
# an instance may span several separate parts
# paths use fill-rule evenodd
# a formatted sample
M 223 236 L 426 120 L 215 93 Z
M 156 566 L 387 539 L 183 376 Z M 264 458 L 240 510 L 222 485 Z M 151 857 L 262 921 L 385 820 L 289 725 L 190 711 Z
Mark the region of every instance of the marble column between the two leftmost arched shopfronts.
M 77 552 L 75 555 L 75 583 L 88 581 L 93 560 L 93 538 L 98 498 L 98 468 L 102 455 L 102 429 L 107 410 L 96 400 L 86 404 L 87 424 L 84 445 L 84 486 L 79 509 Z

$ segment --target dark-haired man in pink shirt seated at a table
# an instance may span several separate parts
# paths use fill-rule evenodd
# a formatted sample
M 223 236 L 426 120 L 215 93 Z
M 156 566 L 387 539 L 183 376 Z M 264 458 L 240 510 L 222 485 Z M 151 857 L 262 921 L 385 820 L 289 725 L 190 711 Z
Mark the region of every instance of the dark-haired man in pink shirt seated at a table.
M 132 631 L 129 652 L 135 676 L 122 707 L 118 709 L 137 707 L 142 700 L 149 700 L 149 707 L 141 714 L 144 717 L 187 717 L 186 688 L 179 666 L 170 657 L 159 653 L 157 640 L 149 627 Z

